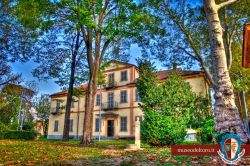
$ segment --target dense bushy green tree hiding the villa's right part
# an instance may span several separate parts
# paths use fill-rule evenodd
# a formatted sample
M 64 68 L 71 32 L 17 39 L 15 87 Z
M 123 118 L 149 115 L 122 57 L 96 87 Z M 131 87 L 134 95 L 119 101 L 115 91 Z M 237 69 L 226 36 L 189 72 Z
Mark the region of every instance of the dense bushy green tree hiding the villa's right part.
M 181 78 L 181 71 L 173 71 L 160 83 L 149 61 L 140 61 L 139 69 L 136 86 L 144 113 L 142 137 L 153 145 L 181 143 L 187 126 L 197 115 L 195 110 L 198 110 L 200 96 L 193 93 L 191 86 Z M 207 109 L 203 111 L 208 112 Z

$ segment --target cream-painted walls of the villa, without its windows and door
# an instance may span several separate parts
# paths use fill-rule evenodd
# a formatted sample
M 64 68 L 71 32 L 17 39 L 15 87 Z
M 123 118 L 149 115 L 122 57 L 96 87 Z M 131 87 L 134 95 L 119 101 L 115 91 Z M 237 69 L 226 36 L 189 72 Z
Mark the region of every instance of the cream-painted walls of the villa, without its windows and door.
M 127 80 L 121 81 L 121 72 L 127 71 Z M 93 115 L 93 137 L 98 138 L 99 131 L 96 131 L 96 119 L 99 119 L 99 110 L 101 109 L 101 138 L 107 138 L 108 120 L 114 120 L 114 136 L 118 137 L 132 137 L 134 135 L 134 122 L 136 117 L 143 117 L 143 112 L 139 108 L 138 102 L 136 101 L 136 87 L 135 79 L 139 77 L 138 71 L 134 66 L 126 66 L 122 64 L 112 64 L 107 67 L 104 74 L 114 73 L 115 87 L 98 89 L 97 94 L 102 94 L 101 103 L 108 102 L 108 94 L 114 93 L 114 101 L 117 102 L 118 108 L 113 110 L 105 110 L 102 106 L 96 105 L 96 99 L 94 103 L 94 115 Z M 203 75 L 185 77 L 185 80 L 191 85 L 192 90 L 201 95 L 209 94 L 209 86 L 207 85 Z M 121 103 L 121 91 L 127 91 L 127 102 Z M 53 96 L 51 102 L 51 110 L 56 108 L 56 101 L 61 100 L 61 106 L 66 106 L 66 95 L 64 96 Z M 81 96 L 80 101 L 78 98 L 74 98 L 74 107 L 71 108 L 71 118 L 73 119 L 73 131 L 70 132 L 70 136 L 76 138 L 83 135 L 83 121 L 84 121 L 84 110 L 85 110 L 85 97 Z M 79 107 L 78 107 L 79 104 Z M 63 108 L 58 114 L 50 114 L 49 116 L 49 127 L 48 127 L 48 138 L 49 139 L 61 139 L 63 135 L 64 126 L 64 114 L 65 108 Z M 79 115 L 79 121 L 78 121 Z M 121 131 L 121 117 L 127 117 L 127 130 Z M 58 120 L 58 132 L 54 131 L 55 120 Z M 77 133 L 78 125 L 78 133 Z

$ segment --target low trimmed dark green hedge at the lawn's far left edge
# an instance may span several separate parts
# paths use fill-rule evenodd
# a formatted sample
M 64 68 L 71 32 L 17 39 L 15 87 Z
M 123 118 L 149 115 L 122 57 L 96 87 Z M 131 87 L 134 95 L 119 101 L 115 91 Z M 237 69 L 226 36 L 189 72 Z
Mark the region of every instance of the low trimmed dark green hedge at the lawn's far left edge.
M 37 137 L 37 132 L 30 130 L 9 130 L 4 134 L 5 139 L 24 139 L 24 140 L 34 140 Z

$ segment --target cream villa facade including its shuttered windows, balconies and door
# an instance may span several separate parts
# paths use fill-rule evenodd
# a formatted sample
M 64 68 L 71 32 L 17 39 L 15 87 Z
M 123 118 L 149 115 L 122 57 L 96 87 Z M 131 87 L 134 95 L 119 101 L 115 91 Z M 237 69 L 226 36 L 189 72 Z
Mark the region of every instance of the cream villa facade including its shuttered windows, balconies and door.
M 157 75 L 161 80 L 164 80 L 169 72 L 170 70 L 161 71 Z M 99 135 L 101 138 L 134 137 L 135 119 L 143 117 L 143 112 L 138 105 L 139 96 L 135 86 L 136 79 L 139 77 L 138 69 L 132 64 L 111 61 L 110 65 L 105 68 L 104 74 L 106 81 L 111 83 L 101 89 L 98 88 L 93 113 L 93 137 L 98 138 Z M 183 72 L 183 77 L 190 83 L 194 92 L 209 96 L 209 83 L 203 72 Z M 82 89 L 86 87 L 85 84 Z M 62 138 L 66 97 L 66 91 L 51 95 L 49 139 Z M 74 98 L 69 132 L 72 138 L 82 136 L 84 106 L 84 96 Z

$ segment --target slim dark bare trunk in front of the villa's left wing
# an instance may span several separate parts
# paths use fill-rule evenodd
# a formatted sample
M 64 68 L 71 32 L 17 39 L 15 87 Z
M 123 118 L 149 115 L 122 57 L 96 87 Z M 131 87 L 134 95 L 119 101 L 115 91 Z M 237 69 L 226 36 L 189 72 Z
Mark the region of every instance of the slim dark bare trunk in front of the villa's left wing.
M 76 67 L 76 56 L 78 54 L 78 49 L 79 49 L 79 38 L 80 38 L 80 32 L 78 31 L 77 36 L 76 36 L 75 48 L 71 57 L 70 81 L 69 81 L 69 88 L 68 88 L 68 94 L 67 94 L 64 127 L 63 127 L 63 140 L 64 141 L 69 140 L 70 110 L 71 110 L 72 95 L 73 95 L 73 88 L 74 88 L 74 82 L 75 82 L 75 67 Z

